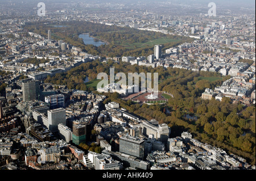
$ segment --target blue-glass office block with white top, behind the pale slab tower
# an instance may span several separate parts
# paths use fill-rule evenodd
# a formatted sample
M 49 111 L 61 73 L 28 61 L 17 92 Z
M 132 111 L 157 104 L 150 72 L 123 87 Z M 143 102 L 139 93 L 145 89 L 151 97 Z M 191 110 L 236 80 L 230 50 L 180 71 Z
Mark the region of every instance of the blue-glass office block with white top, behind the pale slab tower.
M 65 107 L 65 96 L 63 94 L 46 96 L 44 101 L 50 104 L 51 110 Z

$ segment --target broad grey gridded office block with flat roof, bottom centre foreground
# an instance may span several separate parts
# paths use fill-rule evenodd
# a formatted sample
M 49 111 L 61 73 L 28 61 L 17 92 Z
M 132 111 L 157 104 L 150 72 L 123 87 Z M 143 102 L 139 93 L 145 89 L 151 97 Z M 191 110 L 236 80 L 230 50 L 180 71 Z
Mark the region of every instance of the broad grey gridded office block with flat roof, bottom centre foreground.
M 143 159 L 144 140 L 129 135 L 122 136 L 119 138 L 119 151 Z

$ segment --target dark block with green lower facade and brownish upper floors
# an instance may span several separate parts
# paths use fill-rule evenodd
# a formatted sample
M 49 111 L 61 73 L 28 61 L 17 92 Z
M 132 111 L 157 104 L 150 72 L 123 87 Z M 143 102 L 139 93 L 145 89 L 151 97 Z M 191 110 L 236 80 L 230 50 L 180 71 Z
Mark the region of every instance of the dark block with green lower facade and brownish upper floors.
M 86 141 L 85 129 L 85 124 L 73 125 L 72 141 L 74 144 L 79 145 L 81 142 Z

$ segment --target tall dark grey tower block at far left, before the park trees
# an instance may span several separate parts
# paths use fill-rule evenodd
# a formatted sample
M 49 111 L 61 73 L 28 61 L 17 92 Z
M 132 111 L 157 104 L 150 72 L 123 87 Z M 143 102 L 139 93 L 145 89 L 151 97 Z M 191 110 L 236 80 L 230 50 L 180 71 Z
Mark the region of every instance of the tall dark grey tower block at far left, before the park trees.
M 37 81 L 27 81 L 22 83 L 23 101 L 38 100 L 40 86 Z

